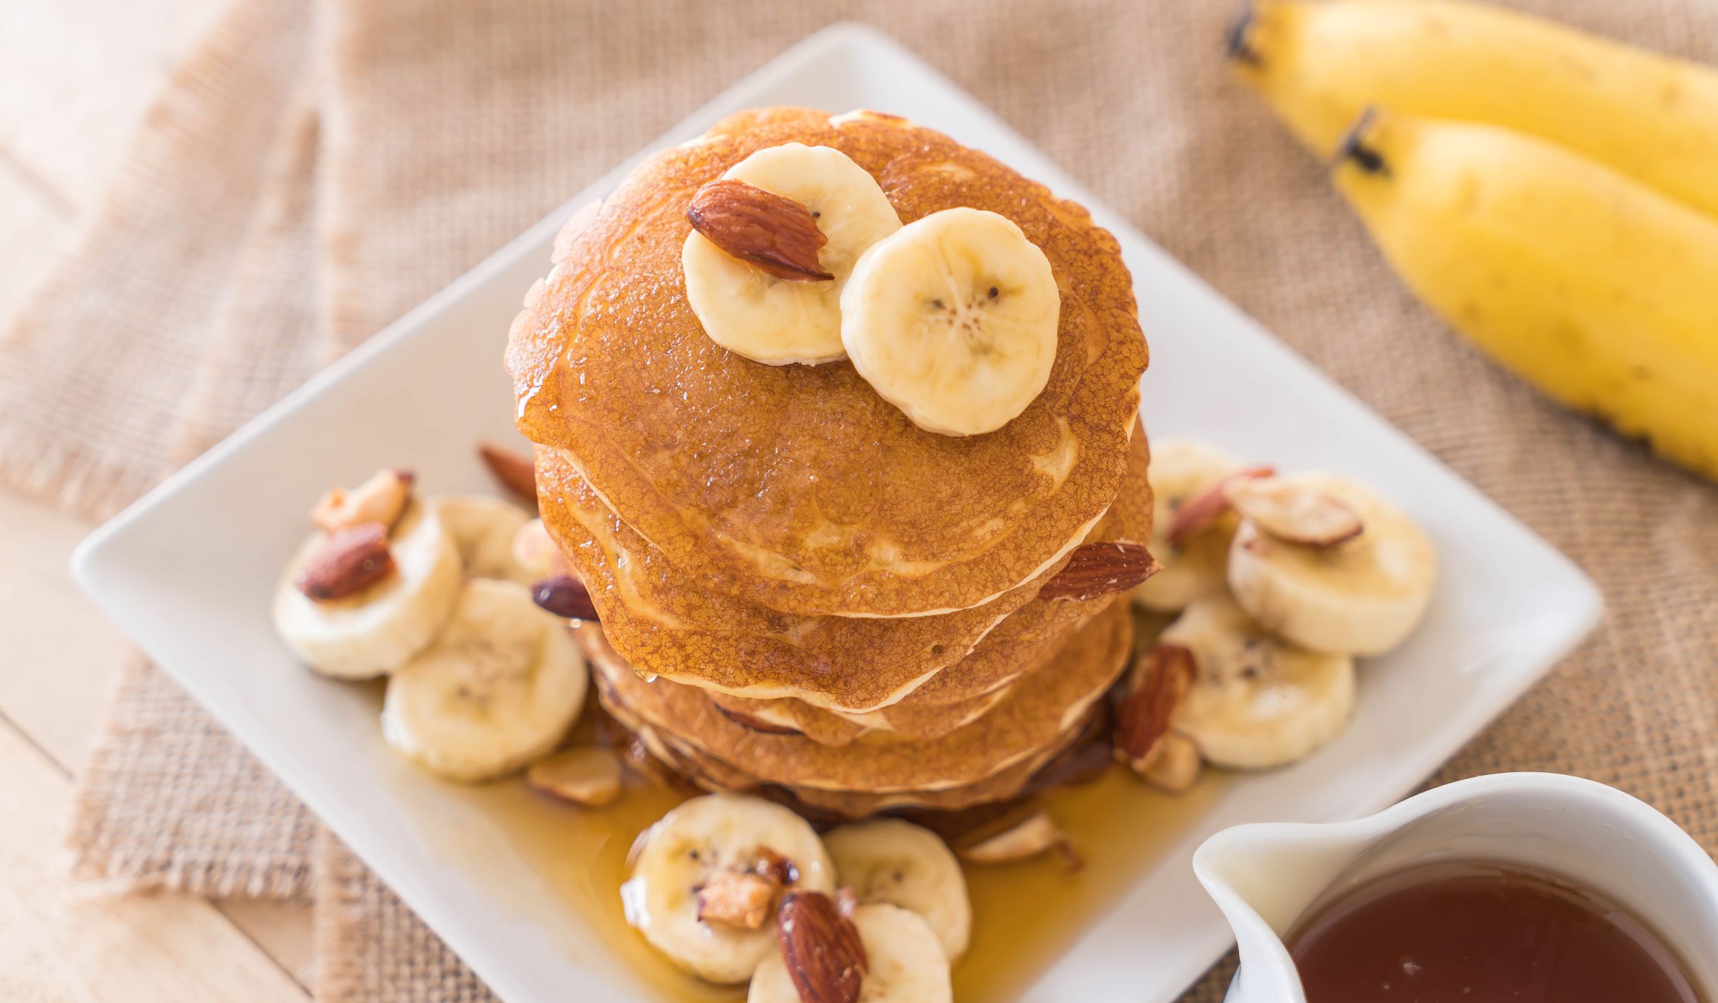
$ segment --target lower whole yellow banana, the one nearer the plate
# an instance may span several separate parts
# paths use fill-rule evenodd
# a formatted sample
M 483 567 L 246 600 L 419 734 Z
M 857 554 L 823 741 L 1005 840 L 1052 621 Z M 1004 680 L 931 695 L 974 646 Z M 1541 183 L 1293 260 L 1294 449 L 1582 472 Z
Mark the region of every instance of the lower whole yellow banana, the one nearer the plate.
M 1450 325 L 1718 477 L 1718 220 L 1510 129 L 1369 113 L 1335 182 Z

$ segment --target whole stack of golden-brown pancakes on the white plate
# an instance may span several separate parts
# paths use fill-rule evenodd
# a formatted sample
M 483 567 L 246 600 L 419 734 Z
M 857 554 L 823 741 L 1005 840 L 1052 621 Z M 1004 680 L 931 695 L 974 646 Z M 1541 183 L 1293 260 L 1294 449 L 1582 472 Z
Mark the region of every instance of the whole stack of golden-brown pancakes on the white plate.
M 704 335 L 685 206 L 783 143 L 847 153 L 902 222 L 991 210 L 1045 251 L 1057 361 L 1019 417 L 935 435 L 845 361 Z M 1144 366 L 1110 234 L 938 132 L 773 108 L 651 158 L 574 216 L 509 347 L 543 522 L 601 618 L 581 634 L 603 704 L 711 790 L 845 816 L 1017 795 L 1091 733 L 1132 647 L 1125 596 L 1038 593 L 1079 544 L 1151 536 Z

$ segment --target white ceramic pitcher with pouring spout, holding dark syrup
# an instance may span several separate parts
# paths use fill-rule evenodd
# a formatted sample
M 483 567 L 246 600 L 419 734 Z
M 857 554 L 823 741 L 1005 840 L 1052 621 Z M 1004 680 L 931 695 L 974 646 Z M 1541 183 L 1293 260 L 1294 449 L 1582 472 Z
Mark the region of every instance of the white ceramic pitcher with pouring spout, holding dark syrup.
M 1646 802 L 1557 773 L 1476 776 L 1352 823 L 1249 824 L 1206 840 L 1194 872 L 1240 945 L 1227 1003 L 1306 1003 L 1282 941 L 1301 914 L 1438 860 L 1514 864 L 1598 891 L 1663 938 L 1718 1003 L 1718 864 Z

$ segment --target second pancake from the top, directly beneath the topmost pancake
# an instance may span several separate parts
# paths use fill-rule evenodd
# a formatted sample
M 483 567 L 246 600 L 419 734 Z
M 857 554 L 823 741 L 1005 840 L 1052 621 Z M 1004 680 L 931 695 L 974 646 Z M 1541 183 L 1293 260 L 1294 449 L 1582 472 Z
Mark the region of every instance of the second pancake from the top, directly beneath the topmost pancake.
M 536 455 L 543 524 L 589 587 L 608 642 L 644 675 L 752 701 L 797 697 L 832 711 L 959 704 L 1017 678 L 1106 605 L 1034 599 L 1034 582 L 945 617 L 778 613 L 701 593 L 603 507 L 558 450 Z M 1136 431 L 1122 491 L 1091 539 L 1151 538 L 1149 459 L 1146 436 Z

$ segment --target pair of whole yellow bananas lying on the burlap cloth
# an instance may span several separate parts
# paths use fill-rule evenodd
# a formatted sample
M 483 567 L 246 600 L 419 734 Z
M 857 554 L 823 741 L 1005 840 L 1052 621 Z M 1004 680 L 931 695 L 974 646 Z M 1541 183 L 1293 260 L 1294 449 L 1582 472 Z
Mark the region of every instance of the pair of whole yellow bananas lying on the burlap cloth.
M 1416 295 L 1718 479 L 1718 70 L 1457 0 L 1259 0 L 1228 46 Z

